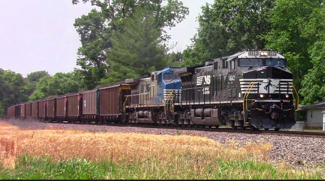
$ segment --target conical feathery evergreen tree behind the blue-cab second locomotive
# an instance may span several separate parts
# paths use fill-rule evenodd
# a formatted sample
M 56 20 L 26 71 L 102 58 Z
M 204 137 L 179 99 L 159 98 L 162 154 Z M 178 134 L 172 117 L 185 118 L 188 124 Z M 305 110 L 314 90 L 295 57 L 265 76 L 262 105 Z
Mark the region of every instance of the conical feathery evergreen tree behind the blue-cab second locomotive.
M 106 83 L 143 76 L 166 66 L 167 48 L 161 39 L 162 27 L 148 9 L 137 7 L 134 15 L 125 20 L 122 32 L 113 34 L 113 48 L 107 56 L 112 67 L 106 75 Z

